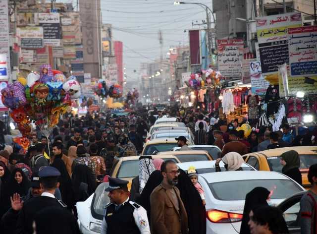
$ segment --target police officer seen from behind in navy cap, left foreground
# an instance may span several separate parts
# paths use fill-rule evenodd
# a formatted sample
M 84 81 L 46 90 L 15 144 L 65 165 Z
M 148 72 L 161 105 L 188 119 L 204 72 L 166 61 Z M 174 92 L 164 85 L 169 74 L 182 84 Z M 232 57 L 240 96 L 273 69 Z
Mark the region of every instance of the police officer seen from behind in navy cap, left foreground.
M 66 207 L 62 201 L 54 196 L 60 172 L 53 167 L 42 167 L 39 170 L 40 186 L 43 189 L 41 196 L 31 198 L 23 205 L 19 212 L 15 234 L 33 234 L 33 221 L 37 212 L 46 207 Z M 68 212 L 65 209 L 65 212 Z M 52 220 L 53 222 L 53 220 Z M 56 224 L 57 225 L 57 224 Z

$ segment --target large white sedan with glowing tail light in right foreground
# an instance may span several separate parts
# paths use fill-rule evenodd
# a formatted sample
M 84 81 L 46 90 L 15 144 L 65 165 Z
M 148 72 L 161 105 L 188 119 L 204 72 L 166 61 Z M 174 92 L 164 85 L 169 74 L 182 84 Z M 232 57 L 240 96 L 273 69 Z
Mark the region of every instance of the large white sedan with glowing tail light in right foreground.
M 216 176 L 215 176 L 216 174 Z M 272 192 L 270 205 L 305 191 L 293 179 L 277 172 L 235 171 L 200 174 L 198 182 L 206 195 L 207 234 L 240 232 L 245 197 L 258 186 Z

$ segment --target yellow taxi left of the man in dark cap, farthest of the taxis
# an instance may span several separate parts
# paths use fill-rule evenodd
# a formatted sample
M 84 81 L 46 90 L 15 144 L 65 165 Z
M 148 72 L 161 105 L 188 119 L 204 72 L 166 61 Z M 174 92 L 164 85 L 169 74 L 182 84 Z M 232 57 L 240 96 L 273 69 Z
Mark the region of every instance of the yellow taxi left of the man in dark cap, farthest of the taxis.
M 190 145 L 190 142 L 188 142 L 188 145 Z M 144 144 L 141 155 L 153 155 L 158 152 L 172 151 L 174 147 L 178 147 L 175 138 L 155 138 Z

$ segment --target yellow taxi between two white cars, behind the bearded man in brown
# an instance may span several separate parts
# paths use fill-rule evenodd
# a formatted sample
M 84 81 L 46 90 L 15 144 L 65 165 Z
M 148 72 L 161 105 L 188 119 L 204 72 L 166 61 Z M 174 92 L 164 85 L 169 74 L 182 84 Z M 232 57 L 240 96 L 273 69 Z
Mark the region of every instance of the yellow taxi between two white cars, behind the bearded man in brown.
M 159 152 L 158 155 L 175 156 L 181 163 L 213 160 L 211 155 L 208 153 L 208 151 L 205 151 L 205 150 Z

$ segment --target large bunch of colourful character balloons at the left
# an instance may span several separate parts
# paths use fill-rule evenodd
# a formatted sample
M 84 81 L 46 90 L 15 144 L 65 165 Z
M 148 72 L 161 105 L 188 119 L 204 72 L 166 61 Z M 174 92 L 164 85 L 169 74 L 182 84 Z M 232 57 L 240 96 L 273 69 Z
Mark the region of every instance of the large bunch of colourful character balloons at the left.
M 27 78 L 19 77 L 2 89 L 1 94 L 2 103 L 10 109 L 10 116 L 22 134 L 14 141 L 27 149 L 32 124 L 49 137 L 60 116 L 71 107 L 71 99 L 80 97 L 81 89 L 75 76 L 66 79 L 62 72 L 45 64 L 40 74 L 31 72 Z

